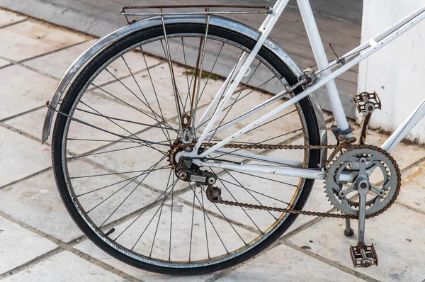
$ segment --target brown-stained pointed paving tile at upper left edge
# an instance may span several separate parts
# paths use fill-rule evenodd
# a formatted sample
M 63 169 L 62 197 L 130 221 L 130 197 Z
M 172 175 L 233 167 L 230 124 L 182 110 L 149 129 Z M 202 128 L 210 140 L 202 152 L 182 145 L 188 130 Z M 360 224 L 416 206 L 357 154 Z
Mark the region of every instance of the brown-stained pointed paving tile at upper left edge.
M 5 44 L 0 45 L 0 54 L 21 61 L 86 39 L 89 39 L 87 35 L 30 20 L 1 28 L 0 40 Z

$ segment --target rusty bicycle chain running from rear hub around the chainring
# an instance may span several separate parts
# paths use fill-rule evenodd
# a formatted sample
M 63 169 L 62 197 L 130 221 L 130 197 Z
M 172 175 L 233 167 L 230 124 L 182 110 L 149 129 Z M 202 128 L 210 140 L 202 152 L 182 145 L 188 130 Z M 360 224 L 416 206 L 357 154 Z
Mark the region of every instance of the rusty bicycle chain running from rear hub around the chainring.
M 203 143 L 203 147 L 213 147 L 216 145 L 216 143 Z M 246 145 L 246 144 L 227 144 L 223 146 L 225 148 L 233 148 L 233 149 L 272 149 L 272 150 L 322 150 L 322 149 L 336 149 L 338 145 L 267 145 L 267 144 L 258 144 L 258 145 Z M 377 150 L 382 154 L 385 154 L 394 164 L 395 169 L 397 171 L 397 188 L 395 191 L 395 195 L 392 198 L 392 200 L 385 206 L 385 208 L 382 208 L 382 210 L 379 210 L 376 213 L 373 213 L 371 215 L 366 215 L 366 218 L 375 218 L 375 216 L 378 216 L 382 213 L 384 213 L 388 208 L 391 207 L 393 203 L 395 203 L 395 200 L 397 199 L 397 196 L 399 195 L 399 191 L 401 188 L 402 183 L 402 177 L 401 177 L 401 171 L 398 167 L 397 162 L 395 162 L 395 159 L 387 153 L 385 150 L 382 150 L 380 147 L 376 147 L 373 145 L 347 145 L 344 147 L 346 150 L 354 150 L 354 149 L 371 149 L 371 150 Z M 212 188 L 212 186 L 209 186 L 209 188 Z M 211 201 L 211 200 L 210 200 Z M 276 207 L 268 207 L 264 205 L 254 205 L 249 203 L 238 203 L 234 201 L 213 201 L 214 203 L 220 203 L 223 205 L 232 205 L 232 206 L 239 206 L 242 208 L 253 208 L 256 210 L 268 210 L 268 211 L 276 211 L 278 213 L 292 213 L 295 215 L 313 215 L 313 216 L 319 216 L 323 218 L 349 218 L 349 219 L 357 219 L 358 217 L 356 215 L 344 215 L 344 214 L 337 214 L 337 213 L 321 213 L 321 212 L 314 212 L 309 210 L 293 210 L 290 208 L 276 208 Z

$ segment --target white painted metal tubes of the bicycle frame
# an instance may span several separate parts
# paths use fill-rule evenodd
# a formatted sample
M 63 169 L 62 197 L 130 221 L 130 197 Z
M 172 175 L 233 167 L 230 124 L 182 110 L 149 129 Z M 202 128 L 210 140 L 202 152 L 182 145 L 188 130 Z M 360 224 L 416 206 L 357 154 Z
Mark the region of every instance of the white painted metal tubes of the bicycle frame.
M 210 162 L 203 162 L 199 158 L 207 157 L 209 154 L 212 154 L 214 152 L 222 152 L 220 148 L 227 145 L 229 142 L 235 140 L 237 137 L 241 135 L 244 135 L 249 130 L 256 128 L 256 126 L 260 125 L 264 121 L 268 120 L 269 118 L 272 118 L 274 115 L 285 110 L 285 108 L 288 108 L 289 106 L 292 106 L 293 104 L 297 103 L 297 101 L 300 101 L 302 98 L 305 98 L 306 96 L 312 94 L 314 91 L 316 91 L 322 86 L 325 86 L 325 89 L 327 90 L 327 95 L 329 96 L 329 101 L 331 103 L 331 110 L 334 113 L 334 118 L 336 120 L 337 125 L 339 126 L 341 130 L 348 130 L 349 129 L 348 121 L 346 119 L 344 108 L 342 107 L 341 99 L 339 98 L 339 93 L 338 93 L 338 90 L 336 89 L 336 84 L 334 82 L 334 79 L 336 77 L 339 77 L 339 75 L 343 74 L 348 69 L 355 66 L 362 60 L 365 60 L 365 58 L 369 57 L 373 53 L 380 50 L 382 47 L 390 43 L 399 35 L 402 35 L 402 33 L 406 32 L 407 30 L 415 26 L 416 23 L 419 23 L 425 18 L 425 5 L 424 5 L 424 6 L 421 6 L 421 8 L 414 11 L 413 13 L 409 14 L 409 16 L 402 18 L 402 20 L 398 21 L 390 28 L 387 28 L 386 30 L 382 31 L 382 33 L 375 35 L 375 37 L 359 45 L 358 47 L 354 48 L 350 52 L 347 52 L 344 56 L 329 63 L 327 59 L 327 55 L 324 51 L 322 40 L 320 39 L 319 30 L 317 29 L 316 21 L 314 20 L 314 15 L 312 13 L 310 1 L 297 0 L 297 4 L 300 9 L 302 20 L 305 24 L 305 29 L 307 31 L 308 38 L 310 40 L 310 45 L 312 46 L 314 57 L 317 62 L 317 66 L 319 67 L 319 71 L 317 72 L 318 81 L 312 84 L 307 89 L 305 89 L 305 91 L 302 91 L 297 96 L 290 98 L 288 101 L 286 101 L 282 105 L 274 108 L 273 111 L 270 111 L 266 115 L 263 115 L 261 118 L 258 118 L 257 120 L 250 123 L 249 125 L 246 125 L 246 127 L 242 128 L 242 130 L 239 130 L 238 132 L 235 132 L 233 135 L 230 135 L 229 137 L 225 138 L 221 142 L 218 142 L 217 145 L 210 147 L 208 150 L 205 150 L 205 152 L 199 155 L 196 154 L 196 152 L 198 152 L 200 145 L 203 142 L 205 142 L 205 139 L 208 137 L 211 137 L 213 134 L 215 134 L 215 132 L 220 132 L 224 130 L 225 128 L 228 128 L 229 126 L 233 125 L 234 123 L 237 123 L 240 120 L 244 120 L 244 118 L 247 118 L 249 115 L 256 113 L 257 111 L 261 110 L 261 108 L 264 108 L 265 106 L 270 105 L 274 101 L 278 101 L 278 98 L 288 93 L 288 89 L 285 89 L 279 94 L 276 94 L 276 96 L 273 96 L 272 98 L 268 99 L 268 101 L 265 101 L 261 103 L 259 106 L 252 108 L 250 111 L 247 111 L 246 113 L 242 115 L 239 115 L 238 118 L 235 118 L 232 122 L 228 123 L 227 125 L 220 126 L 220 128 L 217 128 L 217 130 L 214 130 L 214 132 L 210 131 L 212 128 L 212 125 L 214 125 L 215 121 L 219 117 L 220 113 L 222 113 L 222 110 L 225 108 L 227 102 L 229 101 L 229 98 L 232 96 L 234 90 L 237 88 L 237 85 L 240 83 L 240 81 L 242 81 L 244 74 L 246 74 L 246 72 L 249 69 L 249 66 L 254 61 L 257 53 L 261 49 L 261 46 L 265 42 L 266 38 L 268 38 L 269 33 L 271 32 L 271 30 L 273 29 L 273 26 L 275 26 L 276 22 L 278 21 L 278 18 L 280 17 L 283 10 L 285 9 L 285 6 L 288 4 L 288 1 L 289 0 L 278 0 L 276 2 L 276 5 L 273 7 L 273 13 L 266 17 L 266 20 L 263 22 L 263 24 L 261 25 L 261 28 L 259 29 L 259 31 L 261 32 L 261 37 L 257 41 L 254 49 L 252 50 L 250 54 L 244 53 L 242 55 L 242 57 L 237 62 L 237 65 L 234 67 L 229 77 L 227 77 L 225 84 L 223 84 L 222 86 L 222 89 L 220 89 L 220 91 L 217 93 L 212 103 L 208 107 L 207 111 L 205 111 L 203 117 L 200 118 L 200 120 L 198 121 L 198 126 L 203 124 L 205 120 L 207 120 L 208 116 L 212 113 L 213 109 L 215 109 L 215 111 L 212 114 L 212 118 L 210 119 L 210 122 L 206 126 L 205 130 L 203 130 L 202 134 L 200 135 L 200 138 L 198 139 L 198 142 L 196 143 L 196 147 L 195 147 L 195 150 L 193 150 L 193 153 L 184 154 L 185 156 L 188 156 L 188 157 L 198 158 L 194 160 L 194 163 L 203 167 L 220 167 L 223 169 L 233 169 L 237 171 L 251 171 L 251 172 L 259 172 L 259 173 L 266 173 L 266 174 L 279 174 L 283 176 L 296 176 L 296 177 L 308 178 L 308 179 L 324 179 L 326 174 L 324 173 L 323 170 L 302 169 L 301 168 L 302 164 L 300 164 L 300 168 L 297 169 L 297 168 L 277 167 L 277 166 L 266 167 L 261 165 L 229 164 L 229 163 L 222 163 L 222 162 L 210 163 Z M 359 55 L 357 57 L 354 57 L 358 53 Z M 345 63 L 341 64 L 341 60 L 344 60 Z M 346 62 L 347 60 L 349 61 Z M 331 72 L 331 69 L 334 69 L 338 66 L 341 66 L 341 67 L 336 69 L 336 71 Z M 232 84 L 230 84 L 229 89 L 224 94 L 226 86 L 229 81 L 232 81 Z M 219 102 L 220 104 L 217 106 Z M 391 152 L 391 150 L 394 149 L 394 147 L 397 146 L 399 142 L 401 142 L 401 140 L 409 133 L 410 130 L 412 130 L 412 128 L 414 128 L 414 125 L 416 125 L 416 123 L 418 123 L 419 120 L 421 120 L 421 118 L 424 117 L 424 115 L 425 115 L 425 100 L 421 103 L 421 105 L 419 105 L 412 112 L 411 115 L 409 115 L 409 117 L 404 121 L 404 123 L 402 123 L 402 125 L 400 125 L 399 128 L 395 130 L 395 132 L 382 145 L 382 149 L 386 150 L 387 152 Z M 346 135 L 346 137 L 350 137 L 350 136 L 351 134 L 349 133 Z M 245 154 L 242 152 L 238 152 L 237 155 L 239 157 L 248 157 L 248 158 L 255 156 L 256 159 L 258 159 L 258 157 L 261 157 L 261 159 L 265 161 L 269 160 L 269 161 L 272 161 L 275 163 L 277 162 L 280 164 L 291 164 L 291 165 L 294 164 L 293 160 L 276 159 L 276 157 L 272 158 L 267 156 L 259 156 L 256 154 Z M 349 181 L 353 179 L 353 176 L 346 175 L 343 178 L 344 179 L 341 179 L 342 181 Z

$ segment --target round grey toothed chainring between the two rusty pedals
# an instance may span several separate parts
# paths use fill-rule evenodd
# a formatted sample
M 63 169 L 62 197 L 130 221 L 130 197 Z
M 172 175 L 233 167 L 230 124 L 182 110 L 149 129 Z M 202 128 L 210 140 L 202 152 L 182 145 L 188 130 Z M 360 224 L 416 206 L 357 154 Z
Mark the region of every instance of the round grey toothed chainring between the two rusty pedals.
M 375 184 L 376 186 L 370 184 L 371 189 L 366 203 L 367 216 L 387 210 L 397 198 L 401 186 L 399 167 L 395 159 L 385 150 L 368 145 L 348 149 L 331 163 L 325 181 L 327 197 L 338 210 L 347 215 L 358 215 L 358 200 L 354 197 L 348 198 L 357 193 L 355 188 L 357 179 L 344 186 L 339 179 L 344 172 L 355 172 L 359 159 L 363 157 L 368 161 L 368 168 L 376 166 L 374 171 L 380 171 L 383 179 L 379 184 Z

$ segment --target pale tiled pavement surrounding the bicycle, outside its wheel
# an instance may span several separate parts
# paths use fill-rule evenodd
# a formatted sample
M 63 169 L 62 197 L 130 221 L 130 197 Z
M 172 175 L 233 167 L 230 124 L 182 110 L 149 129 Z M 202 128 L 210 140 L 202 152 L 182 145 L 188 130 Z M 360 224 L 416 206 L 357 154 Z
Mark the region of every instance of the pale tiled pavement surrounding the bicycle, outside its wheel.
M 306 216 L 268 252 L 205 276 L 147 273 L 103 253 L 64 209 L 51 171 L 50 145 L 40 145 L 45 101 L 93 40 L 0 10 L 0 280 L 424 281 L 425 150 L 407 143 L 393 153 L 404 179 L 397 203 L 367 222 L 366 234 L 380 255 L 378 268 L 353 269 L 348 244 L 355 242 L 342 235 L 343 221 Z M 380 145 L 383 140 L 385 135 L 371 132 L 368 141 Z M 306 209 L 331 209 L 319 181 Z

